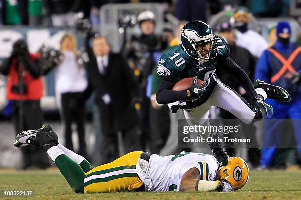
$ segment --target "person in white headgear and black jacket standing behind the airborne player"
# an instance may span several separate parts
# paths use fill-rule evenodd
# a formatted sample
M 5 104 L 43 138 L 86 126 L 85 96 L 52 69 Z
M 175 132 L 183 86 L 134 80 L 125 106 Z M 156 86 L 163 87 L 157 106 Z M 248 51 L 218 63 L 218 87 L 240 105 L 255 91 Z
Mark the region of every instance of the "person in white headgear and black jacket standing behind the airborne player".
M 126 44 L 125 57 L 129 61 L 139 82 L 140 92 L 140 129 L 142 131 L 142 143 L 144 148 L 149 143 L 150 136 L 150 96 L 147 96 L 148 77 L 156 66 L 162 50 L 166 44 L 162 42 L 162 36 L 154 33 L 155 15 L 151 11 L 144 11 L 138 15 L 138 23 L 141 30 L 139 37 L 133 37 Z M 151 94 L 148 94 L 151 95 Z

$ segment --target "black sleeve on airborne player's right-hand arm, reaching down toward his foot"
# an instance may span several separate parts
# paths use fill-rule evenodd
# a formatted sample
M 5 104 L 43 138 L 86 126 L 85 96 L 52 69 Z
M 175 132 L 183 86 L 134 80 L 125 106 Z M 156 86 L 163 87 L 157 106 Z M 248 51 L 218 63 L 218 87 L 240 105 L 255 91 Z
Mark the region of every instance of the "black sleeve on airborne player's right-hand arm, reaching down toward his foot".
M 258 94 L 256 93 L 249 76 L 231 58 L 226 58 L 220 64 L 228 73 L 236 77 L 243 89 L 245 89 L 251 98 L 258 97 Z

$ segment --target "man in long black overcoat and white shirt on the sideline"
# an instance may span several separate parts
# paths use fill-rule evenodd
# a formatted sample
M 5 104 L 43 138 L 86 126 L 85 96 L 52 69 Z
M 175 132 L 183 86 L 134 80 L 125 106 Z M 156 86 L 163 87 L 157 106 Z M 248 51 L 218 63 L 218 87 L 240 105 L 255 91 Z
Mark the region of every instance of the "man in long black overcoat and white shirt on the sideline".
M 112 53 L 104 37 L 93 39 L 93 50 L 90 50 L 86 38 L 86 49 L 89 55 L 87 74 L 89 84 L 84 94 L 78 98 L 83 103 L 94 91 L 94 102 L 99 109 L 102 143 L 100 156 L 102 163 L 110 162 L 119 156 L 118 131 L 122 132 L 126 152 L 140 150 L 137 131 L 137 113 L 133 97 L 138 95 L 138 86 L 133 72 L 125 59 Z M 96 137 L 99 137 L 96 133 Z

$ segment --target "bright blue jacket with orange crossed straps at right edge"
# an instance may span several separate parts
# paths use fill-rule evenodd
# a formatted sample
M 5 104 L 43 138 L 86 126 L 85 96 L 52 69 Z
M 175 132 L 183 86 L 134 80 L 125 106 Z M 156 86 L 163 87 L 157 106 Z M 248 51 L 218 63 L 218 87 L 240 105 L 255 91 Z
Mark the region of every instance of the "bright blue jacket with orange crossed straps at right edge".
M 298 47 L 294 46 L 293 44 L 289 44 L 289 46 L 286 47 L 277 41 L 276 44 L 271 48 L 278 51 L 287 60 L 292 52 Z M 291 63 L 291 66 L 301 75 L 301 52 L 299 52 L 299 54 L 296 56 L 294 61 Z M 291 94 L 291 96 L 301 94 L 300 81 L 299 83 L 293 85 L 288 79 L 288 75 L 290 74 L 288 69 L 286 69 L 280 78 L 271 83 L 271 78 L 274 77 L 282 67 L 283 63 L 273 53 L 271 53 L 269 49 L 267 49 L 263 52 L 262 56 L 257 62 L 255 68 L 255 80 L 260 79 L 266 83 L 283 87 Z

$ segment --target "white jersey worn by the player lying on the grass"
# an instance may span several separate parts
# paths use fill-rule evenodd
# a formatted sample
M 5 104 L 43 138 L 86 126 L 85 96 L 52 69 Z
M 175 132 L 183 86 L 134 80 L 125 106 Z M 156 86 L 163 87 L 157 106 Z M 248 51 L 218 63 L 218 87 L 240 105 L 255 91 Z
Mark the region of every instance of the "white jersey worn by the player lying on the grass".
M 194 167 L 199 169 L 201 180 L 215 180 L 220 165 L 214 156 L 204 153 L 181 152 L 164 157 L 151 155 L 146 171 L 151 184 L 146 185 L 146 190 L 179 191 L 181 178 Z

